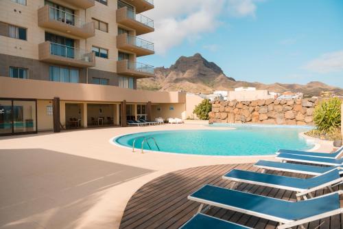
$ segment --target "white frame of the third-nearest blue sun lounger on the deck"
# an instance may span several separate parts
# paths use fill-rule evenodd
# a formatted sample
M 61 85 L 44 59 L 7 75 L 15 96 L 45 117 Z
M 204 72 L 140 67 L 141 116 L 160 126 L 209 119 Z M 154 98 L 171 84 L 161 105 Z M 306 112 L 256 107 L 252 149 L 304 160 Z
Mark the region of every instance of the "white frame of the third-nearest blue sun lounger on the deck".
M 331 171 L 338 169 L 338 168 L 333 168 Z M 326 173 L 330 173 L 331 171 L 327 171 Z M 324 175 L 325 173 L 322 173 L 320 175 Z M 281 177 L 281 176 L 280 176 Z M 316 190 L 320 190 L 322 188 L 329 188 L 329 190 L 331 191 L 331 193 L 333 192 L 333 189 L 331 188 L 334 184 L 339 184 L 340 182 L 343 182 L 343 177 L 340 177 L 338 179 L 334 179 L 331 182 L 327 182 L 325 184 L 322 184 L 320 186 L 316 186 L 314 188 L 309 188 L 309 189 L 303 189 L 303 188 L 292 188 L 289 186 L 281 186 L 281 185 L 276 185 L 276 184 L 268 184 L 268 183 L 263 183 L 263 182 L 255 182 L 255 181 L 251 181 L 249 179 L 239 179 L 239 178 L 232 178 L 232 177 L 226 177 L 225 175 L 222 177 L 223 179 L 228 179 L 228 180 L 232 180 L 233 184 L 231 184 L 230 188 L 233 189 L 235 186 L 236 182 L 242 182 L 242 183 L 247 183 L 247 184 L 256 184 L 256 185 L 260 185 L 260 186 L 266 186 L 266 187 L 270 187 L 270 188 L 280 188 L 280 189 L 284 189 L 284 190 L 292 190 L 297 192 L 296 193 L 296 198 L 298 200 L 301 199 L 301 197 L 303 197 L 304 199 L 307 199 L 306 195 L 308 194 L 309 197 L 313 198 L 313 195 L 311 194 L 312 192 L 316 191 Z

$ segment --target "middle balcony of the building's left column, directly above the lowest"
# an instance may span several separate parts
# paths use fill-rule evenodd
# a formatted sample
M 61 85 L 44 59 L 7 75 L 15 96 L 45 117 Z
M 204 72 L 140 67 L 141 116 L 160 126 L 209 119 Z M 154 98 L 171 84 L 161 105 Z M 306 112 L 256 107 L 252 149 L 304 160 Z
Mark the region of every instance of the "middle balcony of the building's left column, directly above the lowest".
M 43 6 L 38 10 L 38 25 L 78 36 L 82 39 L 95 36 L 95 25 L 93 22 L 85 23 L 80 20 L 80 17 L 51 6 Z

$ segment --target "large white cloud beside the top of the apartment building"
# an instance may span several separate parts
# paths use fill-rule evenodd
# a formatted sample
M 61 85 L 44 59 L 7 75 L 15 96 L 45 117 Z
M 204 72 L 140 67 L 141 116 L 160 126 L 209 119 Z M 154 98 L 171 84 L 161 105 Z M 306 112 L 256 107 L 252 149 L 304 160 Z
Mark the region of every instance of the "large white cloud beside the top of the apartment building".
M 156 54 L 166 54 L 182 41 L 193 41 L 213 32 L 222 24 L 223 13 L 255 16 L 256 1 L 259 0 L 154 0 L 154 10 L 143 14 L 154 20 L 155 32 L 143 37 L 154 42 Z

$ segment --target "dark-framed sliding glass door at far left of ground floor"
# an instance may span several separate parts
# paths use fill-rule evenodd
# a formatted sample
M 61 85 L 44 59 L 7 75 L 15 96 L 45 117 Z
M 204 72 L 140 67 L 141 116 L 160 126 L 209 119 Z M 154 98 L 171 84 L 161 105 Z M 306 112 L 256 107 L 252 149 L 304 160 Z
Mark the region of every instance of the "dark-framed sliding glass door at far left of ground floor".
M 36 100 L 0 98 L 0 135 L 36 132 Z

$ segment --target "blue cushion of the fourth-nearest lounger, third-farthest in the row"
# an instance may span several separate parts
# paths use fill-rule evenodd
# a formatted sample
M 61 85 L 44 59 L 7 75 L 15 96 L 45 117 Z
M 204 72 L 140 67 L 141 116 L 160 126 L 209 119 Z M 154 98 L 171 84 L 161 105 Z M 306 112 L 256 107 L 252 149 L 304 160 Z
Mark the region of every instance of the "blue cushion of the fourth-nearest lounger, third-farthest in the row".
M 327 173 L 331 171 L 333 168 L 337 168 L 338 166 L 310 166 L 307 164 L 292 164 L 292 163 L 282 163 L 282 162 L 271 162 L 265 160 L 259 160 L 254 164 L 259 168 L 265 168 L 270 170 L 276 171 L 286 171 L 286 172 L 293 172 L 293 173 L 303 173 L 309 175 L 320 175 L 322 173 Z

